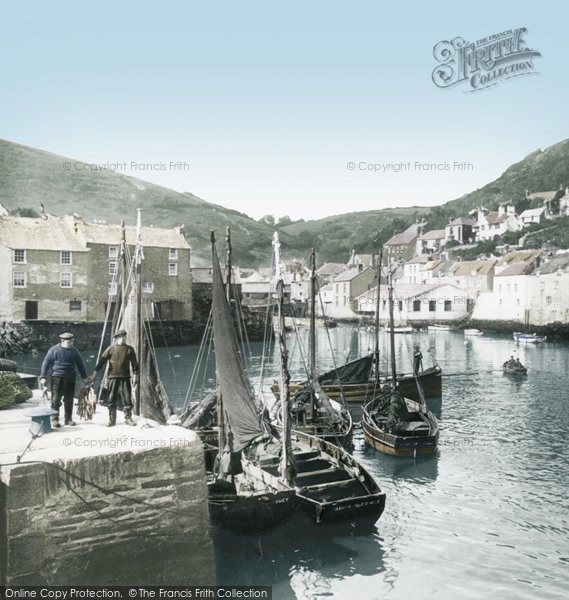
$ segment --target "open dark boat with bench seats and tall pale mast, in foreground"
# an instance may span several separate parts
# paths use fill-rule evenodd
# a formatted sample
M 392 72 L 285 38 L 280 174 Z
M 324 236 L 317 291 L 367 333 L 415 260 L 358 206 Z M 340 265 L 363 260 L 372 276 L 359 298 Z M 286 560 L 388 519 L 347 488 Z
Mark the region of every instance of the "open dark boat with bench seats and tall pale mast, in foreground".
M 280 261 L 278 234 L 273 237 L 275 284 L 278 318 L 282 323 L 284 281 Z M 379 519 L 385 508 L 385 493 L 373 477 L 345 449 L 302 431 L 293 431 L 287 414 L 289 404 L 288 352 L 284 328 L 277 330 L 280 357 L 279 388 L 283 423 L 279 426 L 284 438 L 282 452 L 267 452 L 257 446 L 257 460 L 266 477 L 276 476 L 278 465 L 289 465 L 292 485 L 301 502 L 301 510 L 315 523 L 345 522 L 366 526 Z

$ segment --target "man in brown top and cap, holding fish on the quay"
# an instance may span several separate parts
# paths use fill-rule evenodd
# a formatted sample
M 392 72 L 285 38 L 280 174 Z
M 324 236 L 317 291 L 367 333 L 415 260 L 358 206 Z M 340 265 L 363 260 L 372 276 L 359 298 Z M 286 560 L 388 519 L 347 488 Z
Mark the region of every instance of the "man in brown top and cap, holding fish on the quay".
M 132 392 L 130 387 L 130 372 L 132 368 L 133 381 L 138 380 L 138 361 L 132 346 L 126 343 L 126 331 L 121 329 L 114 335 L 114 344 L 109 346 L 95 366 L 89 381 L 93 382 L 97 372 L 106 362 L 109 362 L 107 379 L 109 380 L 109 422 L 107 427 L 113 427 L 117 422 L 117 400 L 120 395 L 124 407 L 124 422 L 136 425 L 132 420 Z

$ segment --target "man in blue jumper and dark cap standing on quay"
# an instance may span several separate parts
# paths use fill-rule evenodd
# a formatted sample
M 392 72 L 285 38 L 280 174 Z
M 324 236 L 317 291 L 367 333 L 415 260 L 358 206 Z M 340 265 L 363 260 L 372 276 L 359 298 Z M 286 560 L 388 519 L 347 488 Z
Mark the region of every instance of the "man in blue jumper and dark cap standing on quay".
M 75 393 L 75 369 L 83 378 L 83 383 L 88 383 L 87 371 L 77 348 L 73 347 L 75 336 L 72 333 L 62 333 L 59 336 L 59 344 L 52 346 L 45 355 L 41 366 L 40 383 L 45 385 L 47 373 L 51 372 L 51 408 L 57 411 L 57 415 L 51 418 L 53 427 L 61 427 L 59 424 L 59 409 L 61 399 L 65 411 L 65 424 L 75 425 L 73 416 L 73 395 Z

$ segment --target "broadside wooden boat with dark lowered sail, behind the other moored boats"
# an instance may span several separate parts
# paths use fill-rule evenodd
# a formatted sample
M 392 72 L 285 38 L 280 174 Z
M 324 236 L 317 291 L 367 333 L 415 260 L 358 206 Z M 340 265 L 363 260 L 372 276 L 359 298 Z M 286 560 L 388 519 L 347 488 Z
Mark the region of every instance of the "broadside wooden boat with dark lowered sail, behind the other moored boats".
M 373 398 L 380 385 L 391 384 L 389 377 L 377 379 L 375 373 L 378 369 L 375 364 L 379 360 L 378 339 L 379 339 L 379 291 L 380 291 L 380 269 L 383 260 L 383 252 L 379 252 L 379 261 L 377 268 L 377 296 L 375 310 L 375 350 L 356 360 L 347 362 L 338 368 L 332 369 L 318 376 L 318 383 L 322 391 L 331 399 L 336 401 L 344 400 L 347 403 L 362 403 Z M 417 380 L 421 384 L 421 389 L 427 398 L 439 397 L 442 393 L 442 369 L 435 364 L 432 367 L 424 369 L 419 373 L 397 373 L 397 384 L 401 392 L 404 392 L 408 398 L 420 399 L 417 389 Z M 291 384 L 291 393 L 296 393 L 301 387 L 306 385 L 305 381 L 295 381 Z M 271 388 L 278 398 L 278 386 Z

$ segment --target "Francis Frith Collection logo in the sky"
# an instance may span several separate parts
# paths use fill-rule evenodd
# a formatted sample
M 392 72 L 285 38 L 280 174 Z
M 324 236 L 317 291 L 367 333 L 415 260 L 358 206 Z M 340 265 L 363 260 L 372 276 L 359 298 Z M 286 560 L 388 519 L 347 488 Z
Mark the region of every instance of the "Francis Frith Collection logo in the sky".
M 534 59 L 541 54 L 527 47 L 525 27 L 508 29 L 467 42 L 461 37 L 441 41 L 433 48 L 440 63 L 433 82 L 440 88 L 466 84 L 464 92 L 477 92 L 514 77 L 535 75 Z

